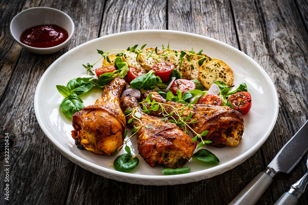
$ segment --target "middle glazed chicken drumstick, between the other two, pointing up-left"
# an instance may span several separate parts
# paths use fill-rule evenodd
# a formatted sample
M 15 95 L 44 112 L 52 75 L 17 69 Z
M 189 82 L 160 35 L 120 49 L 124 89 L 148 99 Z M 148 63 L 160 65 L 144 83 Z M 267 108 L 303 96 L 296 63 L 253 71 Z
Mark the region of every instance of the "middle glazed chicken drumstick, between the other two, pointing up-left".
M 137 132 L 138 151 L 151 167 L 159 164 L 164 168 L 181 168 L 192 157 L 197 142 L 190 141 L 192 138 L 182 128 L 169 121 L 164 123 L 157 117 L 145 114 L 134 97 L 121 97 L 120 105 L 123 112 L 137 108 L 136 111 L 141 114 L 141 123 L 134 119 L 128 126 L 143 125 Z M 132 113 L 126 120 L 131 118 Z

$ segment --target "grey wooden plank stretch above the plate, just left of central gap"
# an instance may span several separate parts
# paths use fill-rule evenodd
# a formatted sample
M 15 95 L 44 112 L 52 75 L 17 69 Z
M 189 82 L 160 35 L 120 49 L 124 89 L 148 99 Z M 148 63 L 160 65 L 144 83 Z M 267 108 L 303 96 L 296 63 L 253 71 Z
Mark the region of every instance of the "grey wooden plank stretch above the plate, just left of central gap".
M 166 29 L 166 1 L 108 1 L 101 36 L 131 30 Z

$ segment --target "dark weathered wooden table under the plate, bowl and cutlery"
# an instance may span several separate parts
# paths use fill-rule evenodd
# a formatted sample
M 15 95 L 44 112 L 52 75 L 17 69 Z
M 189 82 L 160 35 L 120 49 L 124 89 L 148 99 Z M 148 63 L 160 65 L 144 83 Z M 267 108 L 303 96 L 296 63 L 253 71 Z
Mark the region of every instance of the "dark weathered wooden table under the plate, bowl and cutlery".
M 11 37 L 12 18 L 36 6 L 71 16 L 75 34 L 65 49 L 33 54 Z M 228 204 L 308 119 L 307 0 L 5 0 L 0 16 L 0 204 Z M 33 103 L 48 66 L 89 40 L 142 29 L 212 37 L 240 49 L 265 69 L 278 91 L 279 114 L 260 150 L 213 178 L 157 187 L 105 179 L 73 164 L 51 145 L 37 123 Z M 4 199 L 5 133 L 10 137 L 10 201 Z M 304 156 L 290 174 L 278 174 L 257 204 L 273 204 L 306 173 L 306 160 Z M 306 194 L 300 204 L 308 204 Z

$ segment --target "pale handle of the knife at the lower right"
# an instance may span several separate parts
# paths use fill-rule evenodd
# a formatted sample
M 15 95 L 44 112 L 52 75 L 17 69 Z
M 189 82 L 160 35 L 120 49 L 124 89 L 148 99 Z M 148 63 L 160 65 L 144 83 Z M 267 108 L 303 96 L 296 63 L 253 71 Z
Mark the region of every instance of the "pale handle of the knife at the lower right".
M 270 186 L 276 172 L 272 168 L 261 171 L 230 203 L 229 205 L 256 204 L 265 190 Z

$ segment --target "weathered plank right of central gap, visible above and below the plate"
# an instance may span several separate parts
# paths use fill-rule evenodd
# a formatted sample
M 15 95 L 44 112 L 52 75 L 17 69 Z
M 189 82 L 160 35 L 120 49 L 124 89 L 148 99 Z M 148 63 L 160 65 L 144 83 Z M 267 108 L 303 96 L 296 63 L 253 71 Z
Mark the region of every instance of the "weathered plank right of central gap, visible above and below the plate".
M 229 1 L 168 1 L 168 29 L 212 37 L 238 48 Z M 249 160 L 231 171 L 201 182 L 168 188 L 168 202 L 174 204 L 228 204 L 235 187 L 253 179 L 263 167 L 259 150 Z M 243 175 L 245 173 L 245 175 Z M 249 174 L 248 174 L 249 173 Z M 198 187 L 202 187 L 198 189 Z M 228 187 L 228 188 L 222 188 Z M 193 193 L 185 190 L 194 190 Z M 270 192 L 266 192 L 270 195 Z M 261 199 L 267 201 L 267 198 Z

